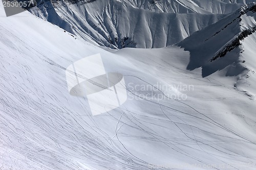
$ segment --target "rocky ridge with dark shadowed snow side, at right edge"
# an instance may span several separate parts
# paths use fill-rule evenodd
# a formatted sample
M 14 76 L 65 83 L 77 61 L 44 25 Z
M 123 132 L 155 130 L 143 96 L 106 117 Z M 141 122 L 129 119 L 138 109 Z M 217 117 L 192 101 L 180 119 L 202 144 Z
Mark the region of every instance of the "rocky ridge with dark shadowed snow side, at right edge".
M 190 52 L 187 69 L 202 67 L 203 77 L 224 69 L 226 76 L 239 75 L 235 86 L 247 84 L 255 95 L 255 17 L 256 3 L 250 3 L 178 43 Z

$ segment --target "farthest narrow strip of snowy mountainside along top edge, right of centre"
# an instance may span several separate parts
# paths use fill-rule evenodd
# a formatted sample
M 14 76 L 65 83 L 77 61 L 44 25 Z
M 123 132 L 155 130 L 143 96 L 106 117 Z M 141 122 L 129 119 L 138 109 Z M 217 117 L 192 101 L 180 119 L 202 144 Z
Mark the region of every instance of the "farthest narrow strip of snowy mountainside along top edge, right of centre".
M 119 0 L 126 5 L 155 12 L 228 14 L 254 0 Z

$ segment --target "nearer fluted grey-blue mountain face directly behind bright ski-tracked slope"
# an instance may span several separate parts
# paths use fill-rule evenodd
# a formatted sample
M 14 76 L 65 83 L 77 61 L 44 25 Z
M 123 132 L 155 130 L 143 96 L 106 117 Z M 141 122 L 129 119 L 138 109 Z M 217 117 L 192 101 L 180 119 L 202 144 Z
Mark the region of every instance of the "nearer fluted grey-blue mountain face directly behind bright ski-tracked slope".
M 114 0 L 42 0 L 31 12 L 87 41 L 115 49 L 172 45 L 225 16 L 156 13 Z

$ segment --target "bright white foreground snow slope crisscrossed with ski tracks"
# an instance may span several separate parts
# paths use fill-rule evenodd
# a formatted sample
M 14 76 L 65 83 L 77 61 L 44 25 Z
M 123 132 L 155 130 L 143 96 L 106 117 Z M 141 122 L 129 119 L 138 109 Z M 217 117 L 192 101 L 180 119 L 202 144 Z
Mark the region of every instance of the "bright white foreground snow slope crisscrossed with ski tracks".
M 252 71 L 243 86 L 243 72 L 231 76 L 222 69 L 203 78 L 200 65 L 188 67 L 193 53 L 186 47 L 110 53 L 29 12 L 7 18 L 1 4 L 0 15 L 1 169 L 255 169 Z M 243 29 L 255 24 L 251 11 L 239 17 L 234 22 Z M 239 33 L 233 26 L 226 37 Z M 201 40 L 200 33 L 195 38 Z M 238 54 L 250 70 L 255 38 L 242 40 Z M 94 54 L 106 71 L 123 75 L 127 90 L 123 105 L 97 116 L 86 98 L 69 94 L 65 75 L 73 62 Z

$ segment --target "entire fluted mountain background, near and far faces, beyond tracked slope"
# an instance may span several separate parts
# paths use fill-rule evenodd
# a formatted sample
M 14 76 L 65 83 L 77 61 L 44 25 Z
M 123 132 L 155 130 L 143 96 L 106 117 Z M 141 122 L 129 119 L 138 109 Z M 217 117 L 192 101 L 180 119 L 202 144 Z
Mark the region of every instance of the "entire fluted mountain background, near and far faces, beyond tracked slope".
M 253 0 L 40 0 L 30 11 L 101 46 L 158 48 L 183 40 L 248 2 Z

